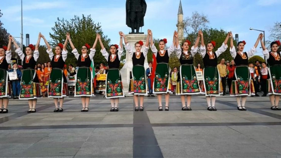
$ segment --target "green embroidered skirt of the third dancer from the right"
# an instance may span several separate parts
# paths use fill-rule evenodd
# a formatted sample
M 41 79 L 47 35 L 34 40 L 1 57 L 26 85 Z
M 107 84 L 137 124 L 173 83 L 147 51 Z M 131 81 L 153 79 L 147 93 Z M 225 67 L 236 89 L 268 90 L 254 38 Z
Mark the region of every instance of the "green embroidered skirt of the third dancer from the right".
M 222 93 L 221 78 L 217 67 L 203 69 L 205 96 L 219 96 Z

